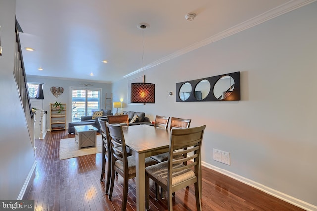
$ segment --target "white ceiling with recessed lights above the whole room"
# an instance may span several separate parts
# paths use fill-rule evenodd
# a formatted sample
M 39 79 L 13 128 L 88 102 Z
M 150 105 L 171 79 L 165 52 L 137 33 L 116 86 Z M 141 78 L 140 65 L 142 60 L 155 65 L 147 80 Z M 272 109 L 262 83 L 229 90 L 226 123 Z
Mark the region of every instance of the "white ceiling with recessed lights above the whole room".
M 110 83 L 142 71 L 139 23 L 150 25 L 146 75 L 149 67 L 313 1 L 16 0 L 16 18 L 22 48 L 35 49 L 23 49 L 27 75 Z M 190 12 L 197 14 L 191 22 L 185 19 Z

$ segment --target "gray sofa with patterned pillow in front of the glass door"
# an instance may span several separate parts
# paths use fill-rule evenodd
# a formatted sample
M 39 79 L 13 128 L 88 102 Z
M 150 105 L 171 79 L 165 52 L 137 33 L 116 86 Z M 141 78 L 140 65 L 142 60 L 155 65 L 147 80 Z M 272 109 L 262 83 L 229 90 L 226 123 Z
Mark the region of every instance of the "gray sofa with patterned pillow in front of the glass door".
M 95 114 L 95 115 L 94 115 Z M 74 126 L 83 126 L 83 125 L 92 125 L 96 127 L 99 130 L 99 118 L 106 118 L 107 115 L 111 114 L 111 110 L 105 110 L 102 109 L 101 111 L 94 112 L 93 115 L 89 116 L 82 116 L 80 122 L 72 122 L 68 123 L 68 133 L 75 133 L 75 127 Z M 98 114 L 96 116 L 96 114 Z

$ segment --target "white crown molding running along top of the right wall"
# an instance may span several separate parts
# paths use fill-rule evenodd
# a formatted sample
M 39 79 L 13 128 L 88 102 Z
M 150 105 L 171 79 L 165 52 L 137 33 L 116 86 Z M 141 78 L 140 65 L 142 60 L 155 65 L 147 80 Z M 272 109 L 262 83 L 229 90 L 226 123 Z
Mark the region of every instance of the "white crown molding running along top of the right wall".
M 293 11 L 295 9 L 298 9 L 302 6 L 313 3 L 315 1 L 316 0 L 291 0 L 285 4 L 282 4 L 278 7 L 275 7 L 274 9 L 271 9 L 267 12 L 264 12 L 261 15 L 255 16 L 247 21 L 244 21 L 244 22 L 237 24 L 229 29 L 226 29 L 222 32 L 219 32 L 219 33 L 217 33 L 217 34 L 215 34 L 215 35 L 213 35 L 205 40 L 202 40 L 200 42 L 196 42 L 188 47 L 185 47 L 179 51 L 176 51 L 175 53 L 169 54 L 169 55 L 167 55 L 159 60 L 156 60 L 156 61 L 144 66 L 143 69 L 146 70 L 146 69 L 152 68 L 156 65 L 159 65 L 159 64 L 164 63 L 166 61 L 174 59 L 174 58 L 181 56 L 185 53 L 196 50 L 196 49 L 203 47 L 205 45 L 211 44 L 212 42 L 219 41 L 223 38 L 229 37 L 229 36 L 234 35 L 238 32 L 241 32 L 243 30 L 246 30 L 246 29 L 254 27 L 258 24 L 264 23 L 265 21 L 276 18 L 280 15 L 283 15 L 287 12 Z M 129 76 L 134 75 L 134 74 L 141 72 L 141 71 L 142 71 L 142 68 L 123 76 L 123 78 L 129 77 Z

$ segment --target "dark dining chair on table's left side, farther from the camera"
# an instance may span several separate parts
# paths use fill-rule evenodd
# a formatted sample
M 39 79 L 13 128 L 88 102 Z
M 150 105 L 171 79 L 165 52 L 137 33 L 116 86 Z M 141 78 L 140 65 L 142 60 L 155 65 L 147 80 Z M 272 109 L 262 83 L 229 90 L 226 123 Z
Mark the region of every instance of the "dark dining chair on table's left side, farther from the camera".
M 102 169 L 100 181 L 103 181 L 105 170 L 106 170 L 106 160 L 107 160 L 107 176 L 105 178 L 105 193 L 108 194 L 110 180 L 111 180 L 111 154 L 110 154 L 110 137 L 109 132 L 107 131 L 106 121 L 98 119 L 99 128 L 103 140 L 103 149 L 102 149 Z

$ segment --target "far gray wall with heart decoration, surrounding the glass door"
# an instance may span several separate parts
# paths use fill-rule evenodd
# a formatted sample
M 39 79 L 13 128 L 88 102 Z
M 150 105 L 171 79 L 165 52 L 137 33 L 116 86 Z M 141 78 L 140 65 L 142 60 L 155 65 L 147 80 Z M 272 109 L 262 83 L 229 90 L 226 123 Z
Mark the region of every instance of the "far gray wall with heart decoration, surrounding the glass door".
M 74 88 L 81 88 L 81 89 L 90 89 L 90 88 L 101 88 L 101 105 L 100 109 L 105 109 L 105 103 L 106 103 L 106 93 L 107 98 L 111 96 L 111 84 L 107 83 L 96 83 L 91 81 L 75 81 L 72 79 L 56 79 L 56 78 L 49 78 L 49 77 L 37 77 L 37 76 L 27 76 L 27 81 L 30 83 L 43 83 L 43 109 L 44 111 L 48 112 L 47 116 L 47 123 L 46 123 L 46 129 L 50 129 L 50 103 L 54 102 L 61 102 L 67 104 L 67 121 L 66 121 L 66 127 L 68 128 L 68 123 L 72 121 L 71 119 L 71 106 L 70 106 L 70 87 Z M 89 86 L 85 86 L 84 84 L 90 84 Z M 59 97 L 55 97 L 51 93 L 51 87 L 63 87 L 64 92 Z M 110 101 L 107 101 L 109 103 Z M 113 109 L 112 109 L 113 110 Z

